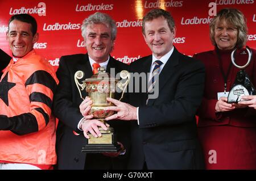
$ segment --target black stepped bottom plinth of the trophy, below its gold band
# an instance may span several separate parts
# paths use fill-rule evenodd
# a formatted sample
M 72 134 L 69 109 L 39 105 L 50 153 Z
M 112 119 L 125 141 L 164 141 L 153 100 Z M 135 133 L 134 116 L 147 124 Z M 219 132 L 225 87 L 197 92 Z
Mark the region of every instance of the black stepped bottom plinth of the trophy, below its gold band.
M 119 144 L 88 144 L 82 148 L 82 153 L 106 153 L 121 150 Z

